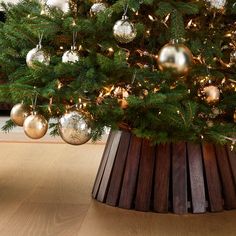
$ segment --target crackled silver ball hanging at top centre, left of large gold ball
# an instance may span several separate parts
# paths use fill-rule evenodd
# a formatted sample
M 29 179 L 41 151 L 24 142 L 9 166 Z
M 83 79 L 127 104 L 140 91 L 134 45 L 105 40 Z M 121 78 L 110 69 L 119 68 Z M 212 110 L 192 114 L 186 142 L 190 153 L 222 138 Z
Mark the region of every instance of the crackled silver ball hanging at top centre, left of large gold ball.
M 137 35 L 134 24 L 128 20 L 127 16 L 122 16 L 113 26 L 113 35 L 120 43 L 130 43 Z

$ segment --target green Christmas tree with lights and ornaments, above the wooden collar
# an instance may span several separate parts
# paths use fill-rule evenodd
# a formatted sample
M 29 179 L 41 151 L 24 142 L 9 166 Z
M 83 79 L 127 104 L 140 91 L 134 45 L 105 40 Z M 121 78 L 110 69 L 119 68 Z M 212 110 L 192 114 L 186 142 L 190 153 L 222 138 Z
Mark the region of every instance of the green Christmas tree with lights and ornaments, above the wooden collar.
M 55 118 L 51 134 L 71 144 L 104 127 L 153 143 L 235 143 L 234 0 L 2 5 L 0 102 L 16 104 L 3 130 L 40 138 Z

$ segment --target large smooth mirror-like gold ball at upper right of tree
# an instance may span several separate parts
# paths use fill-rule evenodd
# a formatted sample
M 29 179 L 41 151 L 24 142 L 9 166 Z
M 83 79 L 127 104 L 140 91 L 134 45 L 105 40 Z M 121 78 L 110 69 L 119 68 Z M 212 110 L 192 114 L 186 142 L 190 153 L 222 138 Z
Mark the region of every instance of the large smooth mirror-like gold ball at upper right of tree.
M 177 75 L 186 75 L 193 63 L 193 55 L 184 44 L 168 43 L 159 51 L 157 60 L 161 70 L 169 69 Z

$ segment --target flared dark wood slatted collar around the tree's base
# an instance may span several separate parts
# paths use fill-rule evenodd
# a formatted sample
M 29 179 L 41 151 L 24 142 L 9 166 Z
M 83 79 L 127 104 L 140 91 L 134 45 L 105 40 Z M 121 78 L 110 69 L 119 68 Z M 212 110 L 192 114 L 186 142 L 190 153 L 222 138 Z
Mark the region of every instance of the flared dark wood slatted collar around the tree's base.
M 138 211 L 177 214 L 236 208 L 236 154 L 191 143 L 151 146 L 112 131 L 92 192 L 96 200 Z

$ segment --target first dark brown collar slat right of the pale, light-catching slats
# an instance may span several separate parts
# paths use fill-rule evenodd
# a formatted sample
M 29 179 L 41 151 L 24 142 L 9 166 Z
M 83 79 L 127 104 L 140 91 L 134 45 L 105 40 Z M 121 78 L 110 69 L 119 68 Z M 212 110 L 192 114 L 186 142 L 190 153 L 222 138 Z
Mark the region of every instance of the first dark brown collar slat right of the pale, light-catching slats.
M 111 182 L 107 193 L 106 203 L 116 206 L 119 200 L 122 179 L 124 175 L 126 158 L 129 150 L 131 133 L 122 131 L 116 160 L 112 170 Z

